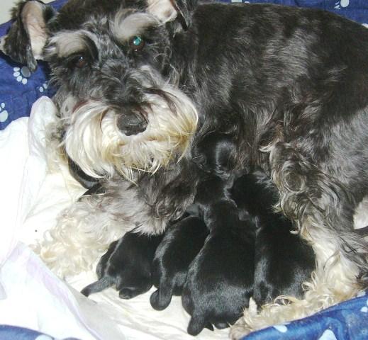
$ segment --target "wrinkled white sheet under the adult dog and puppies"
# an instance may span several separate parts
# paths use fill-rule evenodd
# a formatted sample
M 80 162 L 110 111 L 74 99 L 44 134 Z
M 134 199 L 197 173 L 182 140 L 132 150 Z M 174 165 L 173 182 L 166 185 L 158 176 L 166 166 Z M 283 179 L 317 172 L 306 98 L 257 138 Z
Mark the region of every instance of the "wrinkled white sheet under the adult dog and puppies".
M 55 106 L 43 97 L 30 118 L 0 132 L 0 324 L 57 338 L 194 339 L 186 334 L 189 316 L 179 297 L 162 312 L 150 307 L 153 288 L 132 300 L 119 299 L 113 289 L 87 299 L 79 290 L 96 279 L 93 272 L 65 283 L 26 245 L 54 226 L 57 214 L 84 191 L 66 169 L 48 173 L 45 126 L 53 119 Z M 228 339 L 228 330 L 204 329 L 196 339 Z

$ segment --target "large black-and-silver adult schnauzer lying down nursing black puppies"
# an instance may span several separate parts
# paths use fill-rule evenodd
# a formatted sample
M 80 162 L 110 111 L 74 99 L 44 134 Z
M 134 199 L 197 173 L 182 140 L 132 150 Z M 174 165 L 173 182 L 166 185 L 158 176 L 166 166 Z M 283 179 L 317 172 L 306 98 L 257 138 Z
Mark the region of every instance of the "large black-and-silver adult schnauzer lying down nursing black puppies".
M 236 145 L 231 171 L 260 166 L 274 181 L 317 266 L 303 300 L 246 310 L 232 336 L 367 288 L 368 243 L 353 225 L 368 191 L 366 28 L 323 11 L 196 0 L 69 0 L 58 13 L 30 0 L 13 14 L 1 50 L 30 69 L 50 64 L 52 137 L 105 191 L 74 204 L 43 244 L 57 272 L 89 268 L 123 229 L 157 234 L 180 217 L 201 184 L 192 151 L 217 132 Z M 233 209 L 215 197 L 205 222 Z

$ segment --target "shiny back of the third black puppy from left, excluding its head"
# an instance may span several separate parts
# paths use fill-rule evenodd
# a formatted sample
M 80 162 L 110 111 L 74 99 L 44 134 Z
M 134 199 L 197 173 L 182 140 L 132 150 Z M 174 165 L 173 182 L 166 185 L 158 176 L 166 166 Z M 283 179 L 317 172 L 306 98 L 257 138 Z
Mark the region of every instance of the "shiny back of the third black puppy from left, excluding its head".
M 191 263 L 182 293 L 191 315 L 188 333 L 233 324 L 249 304 L 254 280 L 255 240 L 252 223 L 211 230 Z

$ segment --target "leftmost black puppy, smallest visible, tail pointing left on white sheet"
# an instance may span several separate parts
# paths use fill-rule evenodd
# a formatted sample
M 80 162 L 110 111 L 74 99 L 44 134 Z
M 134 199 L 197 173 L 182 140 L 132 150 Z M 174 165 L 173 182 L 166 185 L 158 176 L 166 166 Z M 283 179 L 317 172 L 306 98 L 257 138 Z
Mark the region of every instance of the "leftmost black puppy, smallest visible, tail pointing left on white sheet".
M 147 292 L 152 287 L 153 256 L 161 240 L 162 235 L 127 232 L 101 257 L 96 268 L 99 280 L 87 285 L 81 293 L 88 296 L 113 285 L 123 299 Z

